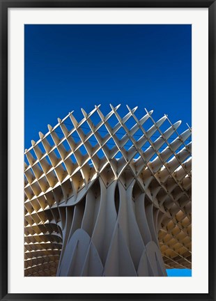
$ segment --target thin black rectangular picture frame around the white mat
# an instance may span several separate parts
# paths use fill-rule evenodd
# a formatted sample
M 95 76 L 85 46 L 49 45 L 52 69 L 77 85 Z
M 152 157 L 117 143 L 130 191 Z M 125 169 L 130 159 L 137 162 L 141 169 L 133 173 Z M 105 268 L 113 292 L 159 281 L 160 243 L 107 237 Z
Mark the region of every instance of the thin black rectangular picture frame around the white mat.
M 208 245 L 208 287 L 209 293 L 191 294 L 18 294 L 8 293 L 8 8 L 208 8 L 208 116 L 209 116 L 209 245 Z M 0 101 L 0 215 L 1 255 L 0 281 L 1 300 L 216 300 L 215 295 L 215 0 L 0 0 L 1 20 L 1 101 Z M 202 104 L 205 105 L 205 104 Z M 204 147 L 204 146 L 203 146 Z M 205 160 L 205 158 L 203 158 Z M 207 194 L 206 194 L 207 195 Z M 205 256 L 203 254 L 203 256 Z M 178 281 L 178 280 L 176 280 Z M 97 286 L 95 286 L 96 289 Z

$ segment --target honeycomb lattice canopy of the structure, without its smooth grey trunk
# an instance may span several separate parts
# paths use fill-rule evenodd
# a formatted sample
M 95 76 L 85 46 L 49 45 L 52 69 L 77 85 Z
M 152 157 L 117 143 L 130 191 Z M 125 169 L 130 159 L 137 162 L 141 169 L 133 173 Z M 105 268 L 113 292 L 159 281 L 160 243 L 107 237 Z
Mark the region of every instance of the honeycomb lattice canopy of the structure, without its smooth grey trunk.
M 137 107 L 121 117 L 119 107 L 82 109 L 79 122 L 70 112 L 25 150 L 25 276 L 56 276 L 68 223 L 70 233 L 83 228 L 88 192 L 97 199 L 115 181 L 132 187 L 135 204 L 141 194 L 153 204 L 165 268 L 191 268 L 192 130 L 178 134 L 180 121 L 154 121 L 153 111 L 138 119 Z

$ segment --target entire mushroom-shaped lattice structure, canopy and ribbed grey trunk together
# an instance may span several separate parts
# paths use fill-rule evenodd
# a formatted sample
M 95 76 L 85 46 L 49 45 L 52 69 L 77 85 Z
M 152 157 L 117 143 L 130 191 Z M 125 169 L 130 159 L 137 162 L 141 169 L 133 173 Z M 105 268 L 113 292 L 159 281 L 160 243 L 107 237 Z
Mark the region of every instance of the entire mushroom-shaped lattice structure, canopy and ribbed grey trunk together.
M 191 128 L 110 107 L 58 118 L 25 151 L 25 276 L 191 268 Z

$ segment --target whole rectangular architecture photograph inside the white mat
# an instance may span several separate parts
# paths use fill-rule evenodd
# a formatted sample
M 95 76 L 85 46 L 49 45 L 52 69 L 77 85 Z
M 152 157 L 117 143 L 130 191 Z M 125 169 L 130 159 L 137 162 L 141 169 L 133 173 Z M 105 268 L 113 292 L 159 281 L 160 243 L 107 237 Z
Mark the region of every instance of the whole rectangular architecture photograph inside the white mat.
M 24 24 L 23 153 L 24 277 L 192 277 L 192 24 Z

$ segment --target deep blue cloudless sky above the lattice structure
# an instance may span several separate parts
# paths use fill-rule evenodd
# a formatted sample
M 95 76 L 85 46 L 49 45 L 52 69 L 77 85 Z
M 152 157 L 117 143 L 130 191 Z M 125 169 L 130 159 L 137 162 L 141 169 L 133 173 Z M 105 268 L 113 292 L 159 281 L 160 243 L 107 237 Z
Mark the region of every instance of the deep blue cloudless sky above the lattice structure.
M 24 148 L 47 123 L 109 103 L 191 120 L 191 25 L 25 25 Z M 180 275 L 177 272 L 177 275 Z

